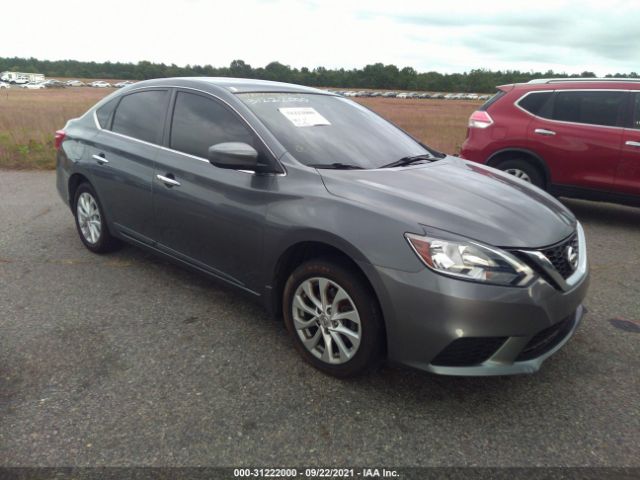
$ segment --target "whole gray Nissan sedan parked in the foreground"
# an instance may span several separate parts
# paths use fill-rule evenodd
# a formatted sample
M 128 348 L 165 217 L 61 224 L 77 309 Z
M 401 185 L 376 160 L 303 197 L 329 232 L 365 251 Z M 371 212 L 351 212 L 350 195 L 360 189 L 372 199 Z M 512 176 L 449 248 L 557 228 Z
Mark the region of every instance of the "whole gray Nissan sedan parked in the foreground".
M 125 241 L 244 290 L 332 375 L 385 358 L 530 373 L 583 315 L 587 249 L 569 210 L 326 91 L 139 82 L 70 120 L 56 147 L 89 250 Z

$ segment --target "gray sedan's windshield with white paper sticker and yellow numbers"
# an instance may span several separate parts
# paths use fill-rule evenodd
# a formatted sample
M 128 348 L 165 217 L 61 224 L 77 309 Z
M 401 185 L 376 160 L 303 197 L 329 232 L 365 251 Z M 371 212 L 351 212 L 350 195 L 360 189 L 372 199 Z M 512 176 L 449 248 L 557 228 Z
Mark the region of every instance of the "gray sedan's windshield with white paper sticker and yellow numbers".
M 432 153 L 346 98 L 309 93 L 240 93 L 238 97 L 305 165 L 379 168 Z

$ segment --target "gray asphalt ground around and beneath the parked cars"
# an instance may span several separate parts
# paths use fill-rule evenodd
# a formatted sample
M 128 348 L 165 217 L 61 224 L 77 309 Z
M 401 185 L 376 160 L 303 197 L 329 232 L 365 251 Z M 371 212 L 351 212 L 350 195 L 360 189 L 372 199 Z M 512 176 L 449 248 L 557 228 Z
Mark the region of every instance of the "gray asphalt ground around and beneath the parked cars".
M 640 209 L 566 202 L 589 313 L 537 374 L 340 381 L 244 294 L 88 252 L 54 173 L 0 200 L 0 465 L 640 466 Z

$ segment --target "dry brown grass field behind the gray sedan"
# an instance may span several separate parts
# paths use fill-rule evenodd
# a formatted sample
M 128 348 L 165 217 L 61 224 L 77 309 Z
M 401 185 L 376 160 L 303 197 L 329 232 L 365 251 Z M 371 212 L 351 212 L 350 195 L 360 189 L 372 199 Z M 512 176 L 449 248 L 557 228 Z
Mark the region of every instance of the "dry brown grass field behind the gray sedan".
M 53 136 L 113 89 L 0 90 L 0 168 L 55 167 Z M 446 153 L 457 153 L 480 102 L 358 98 L 358 102 Z

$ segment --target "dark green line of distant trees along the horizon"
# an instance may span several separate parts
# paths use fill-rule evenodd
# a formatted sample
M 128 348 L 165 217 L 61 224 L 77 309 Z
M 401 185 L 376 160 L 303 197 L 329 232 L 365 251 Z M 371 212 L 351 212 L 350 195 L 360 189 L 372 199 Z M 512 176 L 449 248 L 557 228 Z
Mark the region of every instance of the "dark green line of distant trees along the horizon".
M 522 72 L 519 70 L 474 69 L 464 73 L 418 72 L 412 67 L 374 63 L 364 68 L 346 70 L 316 67 L 292 68 L 280 62 L 254 68 L 243 60 L 234 60 L 228 67 L 211 65 L 121 62 L 80 62 L 77 60 L 39 60 L 36 58 L 0 57 L 0 71 L 43 73 L 47 77 L 100 78 L 146 80 L 160 77 L 242 77 L 298 83 L 316 87 L 350 89 L 376 88 L 387 90 L 424 90 L 439 92 L 492 92 L 496 85 L 528 82 L 533 78 L 595 77 L 593 72 L 567 75 L 554 72 Z M 638 78 L 636 72 L 616 73 L 607 77 Z

